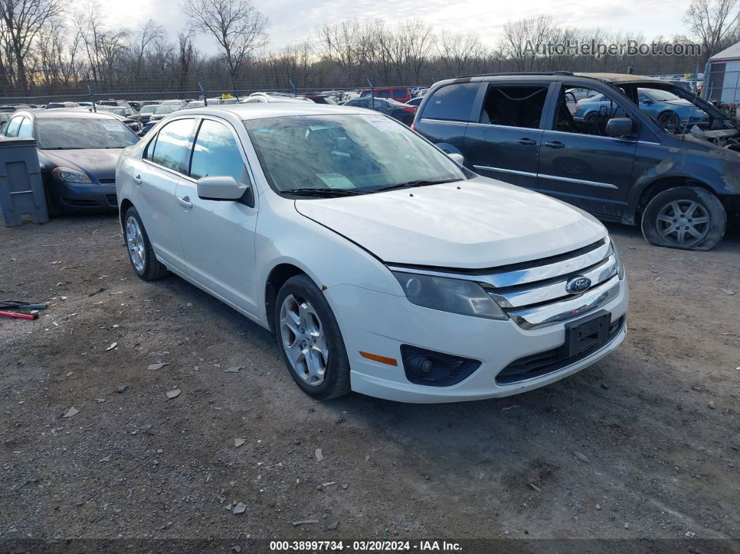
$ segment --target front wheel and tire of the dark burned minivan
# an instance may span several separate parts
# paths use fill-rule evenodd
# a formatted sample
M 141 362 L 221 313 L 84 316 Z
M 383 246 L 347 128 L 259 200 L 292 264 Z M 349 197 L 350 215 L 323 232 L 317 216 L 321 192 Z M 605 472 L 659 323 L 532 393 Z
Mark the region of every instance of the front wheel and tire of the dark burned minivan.
M 707 251 L 724 237 L 727 214 L 711 192 L 696 186 L 675 186 L 650 199 L 642 212 L 641 226 L 650 244 Z

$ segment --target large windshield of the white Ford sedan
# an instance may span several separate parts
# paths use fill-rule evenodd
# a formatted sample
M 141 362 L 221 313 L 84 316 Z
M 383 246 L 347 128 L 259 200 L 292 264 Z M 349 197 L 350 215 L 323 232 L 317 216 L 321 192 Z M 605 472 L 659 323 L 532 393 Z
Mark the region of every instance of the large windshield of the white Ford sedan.
M 295 115 L 244 126 L 278 191 L 374 192 L 465 178 L 450 158 L 384 115 Z

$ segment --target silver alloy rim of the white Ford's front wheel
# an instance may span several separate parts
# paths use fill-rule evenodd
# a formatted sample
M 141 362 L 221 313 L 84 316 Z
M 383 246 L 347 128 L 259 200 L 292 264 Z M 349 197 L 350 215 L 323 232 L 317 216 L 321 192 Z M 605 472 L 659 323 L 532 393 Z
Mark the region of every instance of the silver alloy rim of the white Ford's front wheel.
M 280 307 L 280 339 L 295 374 L 318 386 L 326 376 L 329 347 L 323 325 L 308 300 L 289 294 Z

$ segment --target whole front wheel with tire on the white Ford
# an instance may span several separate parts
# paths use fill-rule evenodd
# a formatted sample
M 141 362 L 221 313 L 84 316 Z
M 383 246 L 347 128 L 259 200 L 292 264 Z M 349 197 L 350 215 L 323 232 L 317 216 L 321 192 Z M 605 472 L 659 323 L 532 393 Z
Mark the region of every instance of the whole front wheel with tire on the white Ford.
M 337 319 L 306 274 L 291 277 L 277 293 L 275 338 L 304 393 L 320 400 L 349 393 L 349 359 Z

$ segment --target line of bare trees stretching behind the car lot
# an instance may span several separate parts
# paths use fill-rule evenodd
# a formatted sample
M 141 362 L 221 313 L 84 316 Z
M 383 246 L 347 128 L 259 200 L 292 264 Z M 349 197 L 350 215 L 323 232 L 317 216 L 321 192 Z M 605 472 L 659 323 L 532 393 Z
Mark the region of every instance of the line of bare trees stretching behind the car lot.
M 155 21 L 129 29 L 106 24 L 99 4 L 70 0 L 0 0 L 0 96 L 95 92 L 178 92 L 428 85 L 481 72 L 573 70 L 666 74 L 704 70 L 707 58 L 740 41 L 740 0 L 692 0 L 686 33 L 645 38 L 629 31 L 556 24 L 551 16 L 509 21 L 494 45 L 471 33 L 421 20 L 390 24 L 351 19 L 266 51 L 269 19 L 252 0 L 182 0 L 189 27 L 168 36 Z M 666 9 L 670 9 L 666 4 Z M 216 54 L 199 51 L 196 33 Z M 576 44 L 692 43 L 693 56 L 546 52 L 545 41 Z

